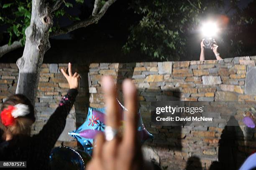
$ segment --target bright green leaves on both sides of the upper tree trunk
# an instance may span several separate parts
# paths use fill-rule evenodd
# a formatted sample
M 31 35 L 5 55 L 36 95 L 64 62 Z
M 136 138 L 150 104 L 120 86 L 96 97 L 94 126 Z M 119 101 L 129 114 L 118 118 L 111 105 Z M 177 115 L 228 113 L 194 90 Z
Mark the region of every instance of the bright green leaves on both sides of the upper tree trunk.
M 56 0 L 51 0 L 49 5 Z M 77 3 L 84 3 L 84 0 L 76 0 Z M 64 1 L 64 5 L 54 11 L 54 27 L 50 32 L 60 29 L 59 18 L 67 17 L 69 20 L 80 20 L 77 16 L 72 16 L 67 13 L 67 8 L 73 7 L 71 2 Z M 32 0 L 2 0 L 0 1 L 0 25 L 6 25 L 9 34 L 8 44 L 10 45 L 15 40 L 20 40 L 22 45 L 25 45 L 26 35 L 25 30 L 30 25 L 32 10 Z

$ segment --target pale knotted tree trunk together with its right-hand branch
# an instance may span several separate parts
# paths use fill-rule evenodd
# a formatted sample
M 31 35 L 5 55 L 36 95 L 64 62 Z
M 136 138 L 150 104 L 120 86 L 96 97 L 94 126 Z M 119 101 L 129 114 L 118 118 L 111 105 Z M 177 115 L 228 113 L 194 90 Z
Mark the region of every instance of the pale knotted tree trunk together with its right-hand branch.
M 52 33 L 51 36 L 65 34 L 78 28 L 97 23 L 115 1 L 108 0 L 100 9 L 100 12 L 97 13 L 99 0 L 95 0 L 94 9 L 90 18 L 74 23 L 66 28 L 61 28 Z M 50 48 L 49 30 L 53 25 L 51 13 L 57 10 L 62 3 L 63 0 L 56 0 L 54 4 L 49 4 L 49 0 L 32 1 L 31 23 L 25 31 L 26 43 L 23 56 L 17 60 L 19 78 L 16 94 L 26 95 L 33 104 L 35 104 L 36 100 L 44 54 Z

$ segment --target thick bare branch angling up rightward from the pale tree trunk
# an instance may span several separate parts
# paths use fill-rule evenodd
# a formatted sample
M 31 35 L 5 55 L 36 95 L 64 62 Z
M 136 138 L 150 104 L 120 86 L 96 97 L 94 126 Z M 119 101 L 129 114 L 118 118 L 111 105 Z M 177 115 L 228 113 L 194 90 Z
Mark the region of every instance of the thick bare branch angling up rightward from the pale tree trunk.
M 102 16 L 106 13 L 106 11 L 108 10 L 108 8 L 115 2 L 116 0 L 108 0 L 107 2 L 105 2 L 105 4 L 103 5 L 103 7 L 101 8 L 100 12 L 98 14 L 96 14 L 95 16 L 91 16 L 90 18 L 86 19 L 86 20 L 82 20 L 76 23 L 73 23 L 72 25 L 69 25 L 67 27 L 64 28 L 60 28 L 59 30 L 57 30 L 56 32 L 52 32 L 50 34 L 50 37 L 54 37 L 54 36 L 58 36 L 61 34 L 67 34 L 73 30 L 76 30 L 78 28 L 82 28 L 82 27 L 87 27 L 88 25 L 92 25 L 94 23 L 96 23 L 98 20 L 100 20 L 100 18 L 102 18 Z

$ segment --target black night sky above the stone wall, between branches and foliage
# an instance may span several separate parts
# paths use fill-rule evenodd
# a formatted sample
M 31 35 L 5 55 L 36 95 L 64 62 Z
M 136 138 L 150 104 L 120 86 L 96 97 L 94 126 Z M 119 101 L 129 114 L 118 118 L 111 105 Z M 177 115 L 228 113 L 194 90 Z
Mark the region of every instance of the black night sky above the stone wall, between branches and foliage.
M 225 10 L 229 9 L 229 1 L 230 0 L 225 0 Z M 238 5 L 243 9 L 247 7 L 248 3 L 251 1 L 253 0 L 240 0 Z M 92 12 L 94 0 L 85 0 L 83 5 L 75 3 L 75 0 L 69 0 L 68 2 L 73 2 L 74 4 L 73 8 L 67 9 L 69 14 L 86 18 Z M 140 18 L 133 13 L 133 10 L 128 10 L 129 2 L 131 2 L 131 0 L 117 0 L 110 6 L 99 23 L 90 25 L 87 28 L 80 28 L 67 35 L 50 38 L 51 49 L 46 52 L 44 62 L 151 61 L 152 59 L 149 59 L 136 51 L 133 51 L 128 56 L 123 55 L 123 52 L 121 51 L 121 48 L 129 35 L 129 26 Z M 233 11 L 230 11 L 228 15 L 232 16 Z M 67 26 L 71 23 L 72 22 L 65 17 L 60 18 L 59 20 L 61 26 Z M 5 27 L 0 27 L 0 31 L 3 31 L 4 29 Z M 5 41 L 7 42 L 7 40 Z M 199 46 L 198 49 L 200 49 Z M 190 52 L 191 57 L 181 60 L 196 60 L 200 51 L 198 52 L 197 46 L 192 47 L 192 49 L 192 52 Z M 10 54 L 0 58 L 0 62 L 15 62 L 18 57 L 22 55 L 22 52 L 22 48 L 10 52 Z M 75 55 L 75 57 L 73 55 Z

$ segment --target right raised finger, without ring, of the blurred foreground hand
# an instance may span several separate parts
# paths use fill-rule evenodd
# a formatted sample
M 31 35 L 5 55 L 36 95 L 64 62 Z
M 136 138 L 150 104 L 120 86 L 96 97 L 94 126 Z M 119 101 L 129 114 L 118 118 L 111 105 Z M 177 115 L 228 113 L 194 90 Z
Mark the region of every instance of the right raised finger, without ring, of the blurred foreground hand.
M 124 143 L 134 144 L 137 137 L 138 102 L 136 87 L 129 79 L 123 82 L 123 97 L 127 110 L 125 110 Z

